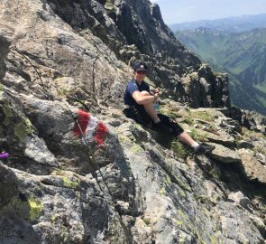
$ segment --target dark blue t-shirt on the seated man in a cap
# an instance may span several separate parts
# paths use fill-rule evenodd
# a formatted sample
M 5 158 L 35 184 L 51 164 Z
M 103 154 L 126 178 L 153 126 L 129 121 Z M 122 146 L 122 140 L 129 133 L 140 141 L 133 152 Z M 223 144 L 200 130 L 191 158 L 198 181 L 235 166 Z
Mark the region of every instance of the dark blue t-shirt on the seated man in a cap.
M 132 97 L 133 92 L 136 90 L 139 90 L 139 91 L 146 90 L 150 93 L 150 86 L 143 80 L 142 80 L 141 85 L 139 85 L 138 82 L 134 79 L 130 80 L 124 91 L 124 104 L 129 105 L 129 106 L 133 106 L 137 104 L 136 101 Z

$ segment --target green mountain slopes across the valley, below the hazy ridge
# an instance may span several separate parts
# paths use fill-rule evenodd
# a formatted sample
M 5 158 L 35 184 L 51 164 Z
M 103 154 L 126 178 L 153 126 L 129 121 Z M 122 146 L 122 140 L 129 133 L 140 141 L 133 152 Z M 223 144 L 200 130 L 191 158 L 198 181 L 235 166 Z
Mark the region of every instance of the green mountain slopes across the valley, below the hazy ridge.
M 198 28 L 175 35 L 215 70 L 229 73 L 234 105 L 266 115 L 266 28 L 245 33 Z

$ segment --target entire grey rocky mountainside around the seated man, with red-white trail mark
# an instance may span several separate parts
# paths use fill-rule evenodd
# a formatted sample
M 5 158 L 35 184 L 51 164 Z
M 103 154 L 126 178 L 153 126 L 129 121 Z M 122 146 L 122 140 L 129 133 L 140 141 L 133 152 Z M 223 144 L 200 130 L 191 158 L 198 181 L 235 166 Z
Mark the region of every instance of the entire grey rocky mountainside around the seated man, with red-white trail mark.
M 0 20 L 0 243 L 265 242 L 265 118 L 224 108 L 226 75 L 175 40 L 158 5 L 0 0 Z M 124 117 L 135 59 L 161 113 L 213 153 Z

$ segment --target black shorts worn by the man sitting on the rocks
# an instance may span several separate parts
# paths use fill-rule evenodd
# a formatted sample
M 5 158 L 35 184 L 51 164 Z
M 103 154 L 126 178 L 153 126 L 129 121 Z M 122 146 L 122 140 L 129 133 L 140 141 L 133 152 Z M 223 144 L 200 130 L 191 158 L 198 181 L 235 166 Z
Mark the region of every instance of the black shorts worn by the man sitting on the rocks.
M 156 126 L 151 120 L 151 117 L 147 115 L 145 108 L 141 105 L 124 108 L 123 112 L 126 117 L 132 118 L 143 127 L 151 127 L 154 130 L 160 130 L 169 133 L 172 136 L 179 136 L 184 132 L 182 127 L 180 127 L 171 117 L 162 114 L 158 114 L 158 117 L 161 119 L 161 124 Z

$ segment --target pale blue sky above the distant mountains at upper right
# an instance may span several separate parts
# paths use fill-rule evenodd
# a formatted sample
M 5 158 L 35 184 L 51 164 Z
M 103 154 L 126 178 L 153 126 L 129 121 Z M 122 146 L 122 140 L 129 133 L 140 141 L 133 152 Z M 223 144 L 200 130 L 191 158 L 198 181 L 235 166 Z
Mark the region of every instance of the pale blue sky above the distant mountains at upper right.
M 266 0 L 150 0 L 160 6 L 164 23 L 266 14 Z

